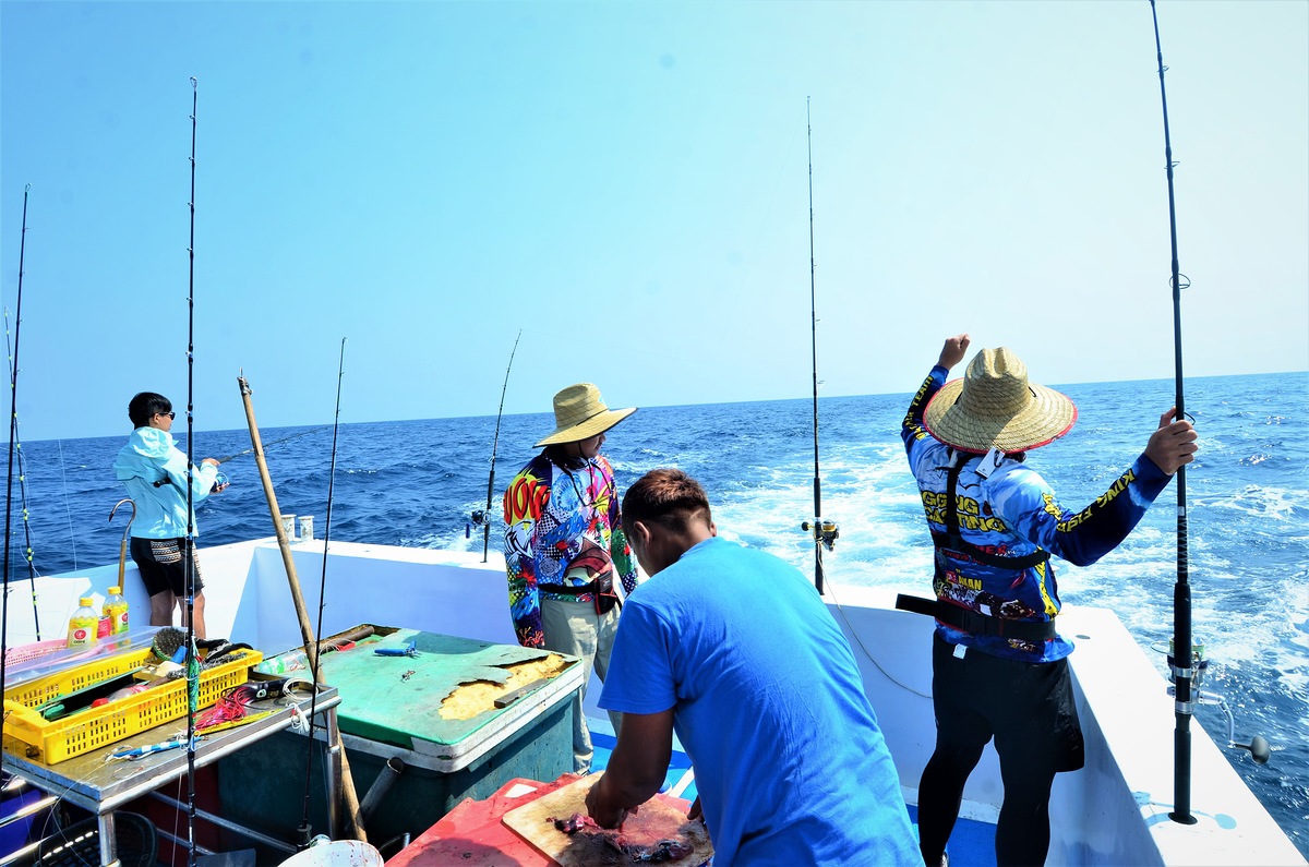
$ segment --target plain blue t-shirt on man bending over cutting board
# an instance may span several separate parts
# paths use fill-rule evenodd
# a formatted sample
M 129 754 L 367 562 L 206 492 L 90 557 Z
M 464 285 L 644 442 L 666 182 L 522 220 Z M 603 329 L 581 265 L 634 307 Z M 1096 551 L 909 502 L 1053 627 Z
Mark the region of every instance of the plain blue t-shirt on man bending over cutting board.
M 850 644 L 770 554 L 715 537 L 637 587 L 600 705 L 674 709 L 715 867 L 923 863 Z

